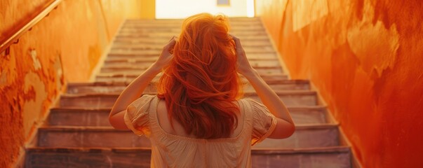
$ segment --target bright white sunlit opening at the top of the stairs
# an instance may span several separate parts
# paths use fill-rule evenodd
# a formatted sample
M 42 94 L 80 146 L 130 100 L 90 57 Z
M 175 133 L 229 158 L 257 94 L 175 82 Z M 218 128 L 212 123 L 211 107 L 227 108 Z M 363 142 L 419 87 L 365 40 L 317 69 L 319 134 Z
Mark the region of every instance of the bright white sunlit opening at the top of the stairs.
M 156 19 L 181 19 L 196 13 L 254 17 L 255 0 L 156 0 Z

